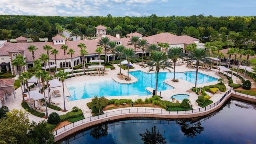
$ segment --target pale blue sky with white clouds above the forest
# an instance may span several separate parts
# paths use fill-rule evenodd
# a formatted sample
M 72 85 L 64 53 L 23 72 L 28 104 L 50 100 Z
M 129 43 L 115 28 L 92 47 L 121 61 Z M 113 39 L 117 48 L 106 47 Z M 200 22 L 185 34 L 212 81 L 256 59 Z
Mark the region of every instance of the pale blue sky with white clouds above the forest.
M 255 16 L 256 0 L 0 0 L 1 15 Z

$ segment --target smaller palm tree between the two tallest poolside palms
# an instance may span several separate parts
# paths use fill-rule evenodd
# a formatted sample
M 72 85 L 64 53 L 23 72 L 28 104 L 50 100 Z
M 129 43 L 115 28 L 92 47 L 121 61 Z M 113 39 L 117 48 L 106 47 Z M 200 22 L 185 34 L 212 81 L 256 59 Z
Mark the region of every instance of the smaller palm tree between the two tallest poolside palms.
M 181 58 L 184 60 L 185 54 L 183 53 L 183 50 L 180 47 L 172 47 L 170 48 L 170 51 L 168 52 L 168 57 L 173 61 L 174 63 L 174 78 L 175 80 L 175 68 L 176 68 L 176 61 L 178 58 Z

